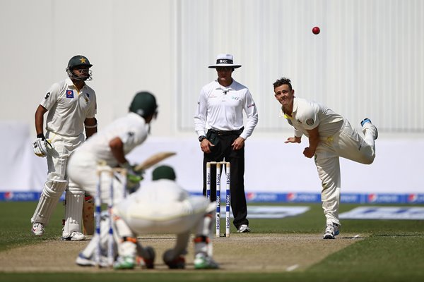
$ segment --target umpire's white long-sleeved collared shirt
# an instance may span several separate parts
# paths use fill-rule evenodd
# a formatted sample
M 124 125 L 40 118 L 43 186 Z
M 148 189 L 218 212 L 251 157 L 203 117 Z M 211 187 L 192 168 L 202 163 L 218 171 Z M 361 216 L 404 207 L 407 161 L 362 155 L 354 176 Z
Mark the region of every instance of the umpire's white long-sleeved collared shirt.
M 249 89 L 232 80 L 223 87 L 218 80 L 202 87 L 194 116 L 197 135 L 206 135 L 205 129 L 239 130 L 243 127 L 243 110 L 247 121 L 245 130 L 240 134 L 243 139 L 252 135 L 258 123 L 258 111 Z

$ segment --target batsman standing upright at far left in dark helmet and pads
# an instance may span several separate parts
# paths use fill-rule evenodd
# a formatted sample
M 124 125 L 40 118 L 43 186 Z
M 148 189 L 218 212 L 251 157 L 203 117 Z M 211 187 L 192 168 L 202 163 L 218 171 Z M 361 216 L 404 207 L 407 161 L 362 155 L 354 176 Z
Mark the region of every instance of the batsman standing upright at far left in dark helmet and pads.
M 34 153 L 38 157 L 47 157 L 48 173 L 31 218 L 34 235 L 43 235 L 59 198 L 66 190 L 62 238 L 83 240 L 85 237 L 81 233 L 84 192 L 68 179 L 66 166 L 76 147 L 97 132 L 95 92 L 86 85 L 86 81 L 91 80 L 92 66 L 86 56 L 73 56 L 66 67 L 69 78 L 54 83 L 35 111 L 37 139 L 33 142 Z

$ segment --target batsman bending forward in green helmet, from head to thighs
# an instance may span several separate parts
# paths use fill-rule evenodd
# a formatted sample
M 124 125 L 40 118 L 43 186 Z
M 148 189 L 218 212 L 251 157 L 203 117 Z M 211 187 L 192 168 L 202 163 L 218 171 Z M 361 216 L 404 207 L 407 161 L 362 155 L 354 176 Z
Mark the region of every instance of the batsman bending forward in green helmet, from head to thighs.
M 101 132 L 93 135 L 87 142 L 74 152 L 69 160 L 69 177 L 90 195 L 95 195 L 98 183 L 98 166 L 126 169 L 126 184 L 130 189 L 136 189 L 142 179 L 143 171 L 136 171 L 126 159 L 126 154 L 146 141 L 150 133 L 151 121 L 158 115 L 158 104 L 150 92 L 139 92 L 129 106 L 129 113 L 118 118 Z M 110 199 L 107 189 L 110 178 L 102 178 L 102 202 Z M 123 189 L 119 189 L 121 181 L 114 179 L 117 189 L 113 199 L 120 202 L 124 196 Z

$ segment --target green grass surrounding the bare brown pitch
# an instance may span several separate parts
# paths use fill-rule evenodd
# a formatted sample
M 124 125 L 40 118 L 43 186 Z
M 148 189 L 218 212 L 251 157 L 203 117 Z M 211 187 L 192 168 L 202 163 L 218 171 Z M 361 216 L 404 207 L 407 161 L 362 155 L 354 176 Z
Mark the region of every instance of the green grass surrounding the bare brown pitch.
M 0 255 L 13 247 L 57 239 L 61 234 L 63 208 L 57 208 L 52 225 L 42 238 L 30 233 L 35 202 L 0 202 Z M 261 204 L 263 205 L 263 204 Z M 281 204 L 283 205 L 283 204 Z M 295 204 L 284 204 L 295 205 Z M 254 233 L 323 233 L 324 214 L 320 204 L 287 219 L 251 219 Z M 341 212 L 358 205 L 342 204 Z M 409 206 L 408 206 L 409 207 Z M 422 206 L 421 206 L 422 207 Z M 344 233 L 368 234 L 302 271 L 280 273 L 223 273 L 218 271 L 170 271 L 148 273 L 0 273 L 0 281 L 424 281 L 424 221 L 343 220 Z M 232 229 L 235 232 L 235 229 Z M 42 259 L 42 258 L 35 258 Z

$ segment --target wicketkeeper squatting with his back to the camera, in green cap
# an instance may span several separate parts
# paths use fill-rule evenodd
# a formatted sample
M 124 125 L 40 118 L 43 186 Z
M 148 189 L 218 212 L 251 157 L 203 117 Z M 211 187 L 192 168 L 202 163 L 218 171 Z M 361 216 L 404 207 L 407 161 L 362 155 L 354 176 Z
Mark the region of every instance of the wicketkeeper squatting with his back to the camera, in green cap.
M 216 203 L 204 196 L 190 196 L 175 183 L 175 171 L 170 166 L 159 166 L 153 171 L 153 182 L 126 197 L 113 208 L 114 230 L 117 232 L 119 257 L 115 269 L 133 269 L 136 256 L 143 257 L 148 268 L 153 268 L 155 252 L 151 247 L 140 247 L 136 235 L 175 233 L 173 249 L 163 254 L 163 262 L 170 269 L 184 269 L 187 245 L 194 232 L 194 268 L 217 269 L 212 258 L 210 242 L 211 222 Z

